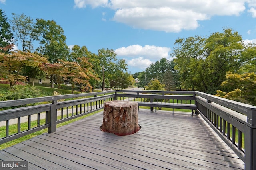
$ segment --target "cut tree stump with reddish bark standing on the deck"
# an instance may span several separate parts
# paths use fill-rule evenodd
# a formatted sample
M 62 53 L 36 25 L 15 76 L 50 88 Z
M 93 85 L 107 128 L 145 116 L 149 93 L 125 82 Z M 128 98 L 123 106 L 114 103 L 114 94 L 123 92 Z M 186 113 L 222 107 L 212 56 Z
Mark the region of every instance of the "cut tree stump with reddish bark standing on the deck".
M 140 128 L 138 103 L 119 100 L 104 103 L 101 131 L 124 136 L 136 133 Z

